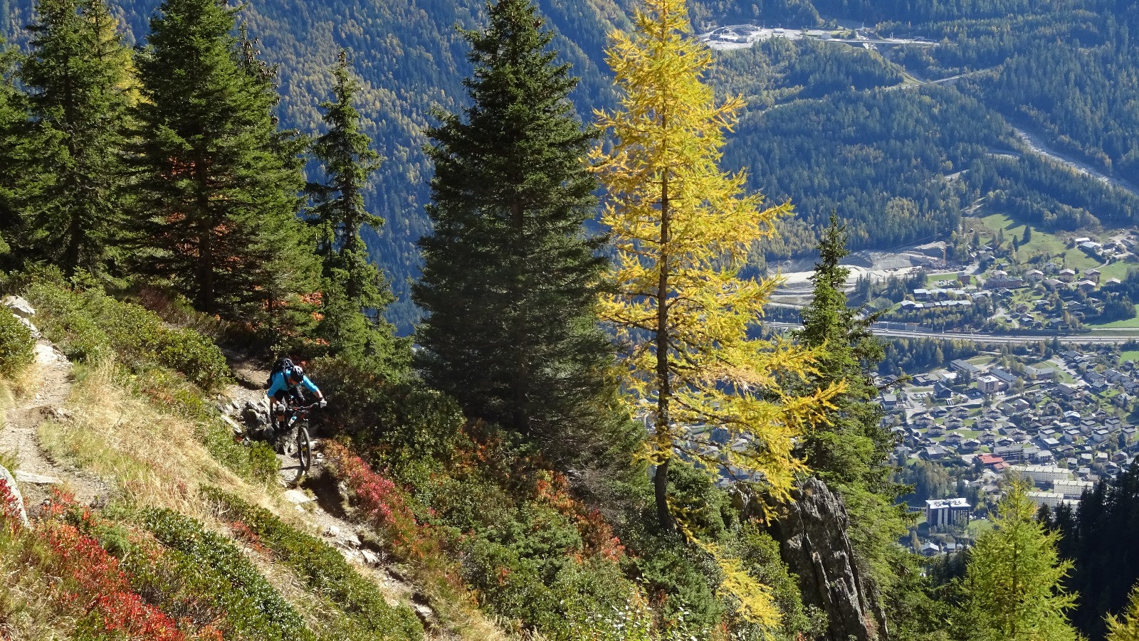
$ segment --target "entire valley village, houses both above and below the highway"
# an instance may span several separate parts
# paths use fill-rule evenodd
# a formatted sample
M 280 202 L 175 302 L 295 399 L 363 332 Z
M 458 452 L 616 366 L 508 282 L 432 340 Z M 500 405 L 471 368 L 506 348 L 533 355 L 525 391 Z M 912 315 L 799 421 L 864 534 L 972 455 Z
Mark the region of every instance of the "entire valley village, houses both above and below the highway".
M 1006 477 L 1031 479 L 1038 506 L 1074 506 L 1139 454 L 1139 351 L 1123 343 L 1139 338 L 1139 231 L 1047 232 L 993 214 L 967 219 L 950 241 L 857 254 L 847 264 L 849 298 L 878 314 L 878 329 L 1031 343 L 1000 352 L 978 345 L 964 356 L 937 350 L 920 364 L 879 368 L 884 425 L 899 443 L 894 462 L 903 482 L 919 486 L 907 498 L 924 516 L 913 551 L 967 544 Z M 796 273 L 772 317 L 797 321 L 792 309 L 808 299 L 808 282 Z M 1122 351 L 1052 340 L 1081 335 L 1115 337 Z M 948 486 L 920 487 L 919 467 L 936 469 Z

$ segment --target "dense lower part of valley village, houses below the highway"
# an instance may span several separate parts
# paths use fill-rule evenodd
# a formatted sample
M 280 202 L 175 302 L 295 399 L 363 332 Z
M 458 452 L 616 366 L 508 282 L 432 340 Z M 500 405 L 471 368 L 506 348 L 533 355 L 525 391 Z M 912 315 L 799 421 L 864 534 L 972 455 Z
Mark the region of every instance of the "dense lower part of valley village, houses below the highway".
M 928 527 L 964 533 L 985 515 L 1013 475 L 1031 479 L 1038 506 L 1074 506 L 1084 490 L 1126 469 L 1139 454 L 1129 408 L 1139 394 L 1133 352 L 1068 348 L 1032 364 L 999 355 L 950 361 L 883 394 L 898 436 L 900 467 L 943 466 L 965 496 L 925 500 Z M 920 508 L 920 506 L 911 507 Z M 936 543 L 916 551 L 936 553 Z

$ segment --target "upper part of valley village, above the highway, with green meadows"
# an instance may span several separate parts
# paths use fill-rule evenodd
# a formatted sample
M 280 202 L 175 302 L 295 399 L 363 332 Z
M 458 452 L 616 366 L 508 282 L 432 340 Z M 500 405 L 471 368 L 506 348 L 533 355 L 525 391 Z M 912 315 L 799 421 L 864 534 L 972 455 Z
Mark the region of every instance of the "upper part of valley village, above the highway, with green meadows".
M 885 286 L 866 283 L 867 297 L 878 290 L 874 307 L 882 320 L 931 329 L 1048 335 L 1139 327 L 1128 279 L 1139 263 L 1139 232 L 1101 240 L 1035 232 L 1035 241 L 1033 233 L 1014 229 L 1015 250 L 1003 229 L 956 248 L 943 241 L 916 247 L 908 255 L 920 269 Z

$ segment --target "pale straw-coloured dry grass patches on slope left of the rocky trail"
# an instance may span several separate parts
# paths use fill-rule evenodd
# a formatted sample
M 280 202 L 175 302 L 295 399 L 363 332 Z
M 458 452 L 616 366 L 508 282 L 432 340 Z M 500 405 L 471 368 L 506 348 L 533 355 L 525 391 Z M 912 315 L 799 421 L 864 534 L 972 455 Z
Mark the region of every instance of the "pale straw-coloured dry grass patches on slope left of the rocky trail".
M 296 536 L 304 536 L 304 532 L 312 529 L 294 506 L 282 499 L 276 484 L 243 478 L 227 469 L 199 442 L 196 436 L 199 426 L 138 394 L 130 388 L 130 381 L 126 372 L 114 364 L 79 367 L 76 384 L 66 405 L 72 418 L 49 420 L 39 427 L 41 441 L 54 458 L 100 476 L 116 491 L 112 502 L 116 512 L 133 515 L 154 508 L 172 509 L 202 521 L 210 531 L 230 536 L 233 534 L 231 524 L 219 520 L 215 506 L 199 492 L 208 486 L 269 510 L 287 524 L 285 527 L 293 528 Z M 10 409 L 19 394 L 30 389 L 24 381 L 0 381 L 0 409 Z M 317 544 L 323 545 L 319 541 Z M 49 568 L 36 567 L 35 554 L 28 549 L 17 553 L 13 540 L 0 537 L 0 548 L 7 550 L 0 553 L 6 557 L 0 564 L 3 566 L 0 569 L 5 570 L 0 572 L 0 585 L 3 585 L 0 592 L 5 594 L 0 598 L 0 622 L 9 626 L 6 634 L 13 640 L 32 640 L 51 631 L 52 638 L 62 641 L 74 638 L 76 622 L 60 610 L 59 597 L 46 578 L 50 576 Z M 262 577 L 319 638 L 344 638 L 338 632 L 345 619 L 341 608 L 351 609 L 352 603 L 334 606 L 322 595 L 327 586 L 316 590 L 306 585 L 271 550 L 247 542 L 240 548 Z M 339 558 L 338 553 L 334 557 Z M 22 565 L 5 565 L 17 561 Z M 377 589 L 374 584 L 370 590 Z M 464 627 L 468 634 L 461 634 L 462 638 L 500 638 L 500 633 L 476 611 L 466 614 Z

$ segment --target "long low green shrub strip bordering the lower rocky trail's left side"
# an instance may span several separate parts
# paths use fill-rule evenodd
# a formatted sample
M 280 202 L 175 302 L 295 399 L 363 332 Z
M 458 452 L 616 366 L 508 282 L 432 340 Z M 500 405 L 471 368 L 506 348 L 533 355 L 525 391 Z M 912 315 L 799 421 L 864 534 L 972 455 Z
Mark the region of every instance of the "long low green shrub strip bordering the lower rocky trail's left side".
M 423 639 L 423 626 L 415 614 L 388 606 L 376 585 L 360 576 L 331 545 L 232 494 L 210 488 L 206 495 L 223 508 L 224 518 L 247 528 L 256 543 L 269 548 L 273 558 L 292 569 L 309 590 L 343 613 L 330 617 L 335 639 Z

